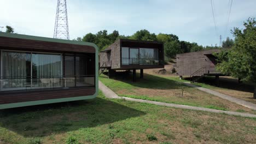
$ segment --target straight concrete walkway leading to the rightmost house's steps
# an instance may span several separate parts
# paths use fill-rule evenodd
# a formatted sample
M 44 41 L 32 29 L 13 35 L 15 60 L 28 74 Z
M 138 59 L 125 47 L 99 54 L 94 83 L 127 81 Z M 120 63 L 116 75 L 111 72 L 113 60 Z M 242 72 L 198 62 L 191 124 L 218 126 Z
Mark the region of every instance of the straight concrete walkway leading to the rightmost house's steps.
M 250 103 L 248 101 L 245 101 L 245 100 L 241 100 L 241 99 L 237 99 L 237 98 L 234 98 L 234 97 L 231 97 L 229 95 L 226 95 L 226 94 L 223 94 L 223 93 L 219 93 L 219 92 L 216 92 L 216 91 L 213 91 L 211 89 L 208 89 L 208 88 L 203 88 L 203 87 L 200 87 L 200 86 L 196 86 L 196 85 L 193 85 L 189 82 L 184 82 L 185 85 L 187 86 L 190 86 L 190 87 L 194 87 L 196 89 L 199 89 L 200 91 L 203 91 L 203 92 L 206 92 L 206 93 L 210 93 L 210 94 L 213 94 L 217 97 L 220 97 L 222 99 L 226 99 L 226 100 L 229 100 L 233 103 L 236 103 L 236 104 L 239 104 L 239 105 L 242 105 L 242 106 L 245 106 L 245 107 L 248 107 L 250 109 L 253 109 L 253 110 L 256 110 L 256 104 L 253 104 L 253 103 Z

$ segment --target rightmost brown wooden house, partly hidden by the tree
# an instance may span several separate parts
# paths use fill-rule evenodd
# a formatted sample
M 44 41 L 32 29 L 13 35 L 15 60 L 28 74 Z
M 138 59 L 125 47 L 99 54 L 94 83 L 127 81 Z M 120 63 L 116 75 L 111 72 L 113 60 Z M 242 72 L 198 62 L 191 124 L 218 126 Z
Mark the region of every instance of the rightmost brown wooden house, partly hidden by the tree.
M 182 76 L 223 76 L 216 70 L 216 57 L 213 53 L 218 53 L 225 49 L 211 49 L 198 52 L 188 52 L 176 55 L 177 74 Z

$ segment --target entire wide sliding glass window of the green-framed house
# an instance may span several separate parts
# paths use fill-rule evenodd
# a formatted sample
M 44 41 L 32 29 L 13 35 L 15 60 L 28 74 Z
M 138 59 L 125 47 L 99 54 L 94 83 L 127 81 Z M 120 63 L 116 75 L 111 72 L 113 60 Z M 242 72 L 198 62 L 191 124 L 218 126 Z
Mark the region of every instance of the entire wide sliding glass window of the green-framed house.
M 2 91 L 61 87 L 61 55 L 3 51 L 2 64 Z

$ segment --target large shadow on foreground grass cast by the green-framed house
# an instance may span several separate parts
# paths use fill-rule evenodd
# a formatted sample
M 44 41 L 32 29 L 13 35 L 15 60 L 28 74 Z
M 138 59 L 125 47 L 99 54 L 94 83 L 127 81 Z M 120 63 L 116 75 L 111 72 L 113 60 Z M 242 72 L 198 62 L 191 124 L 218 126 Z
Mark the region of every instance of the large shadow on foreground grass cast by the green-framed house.
M 25 137 L 42 137 L 146 115 L 102 98 L 0 110 L 0 127 Z

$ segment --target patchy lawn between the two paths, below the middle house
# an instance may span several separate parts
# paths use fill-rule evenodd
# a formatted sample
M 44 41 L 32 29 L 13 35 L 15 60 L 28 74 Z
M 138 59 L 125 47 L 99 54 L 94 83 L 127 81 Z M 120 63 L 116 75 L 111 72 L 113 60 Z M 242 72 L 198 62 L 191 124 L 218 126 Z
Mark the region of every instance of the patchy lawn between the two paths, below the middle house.
M 129 75 L 125 79 L 120 77 L 108 79 L 107 76 L 101 75 L 100 80 L 119 96 L 123 97 L 200 106 L 218 110 L 256 113 L 245 106 L 202 92 L 199 89 L 185 86 L 178 80 L 178 77 L 144 74 L 144 79 L 137 77 L 137 82 L 131 82 Z M 183 96 L 181 88 L 184 89 Z

